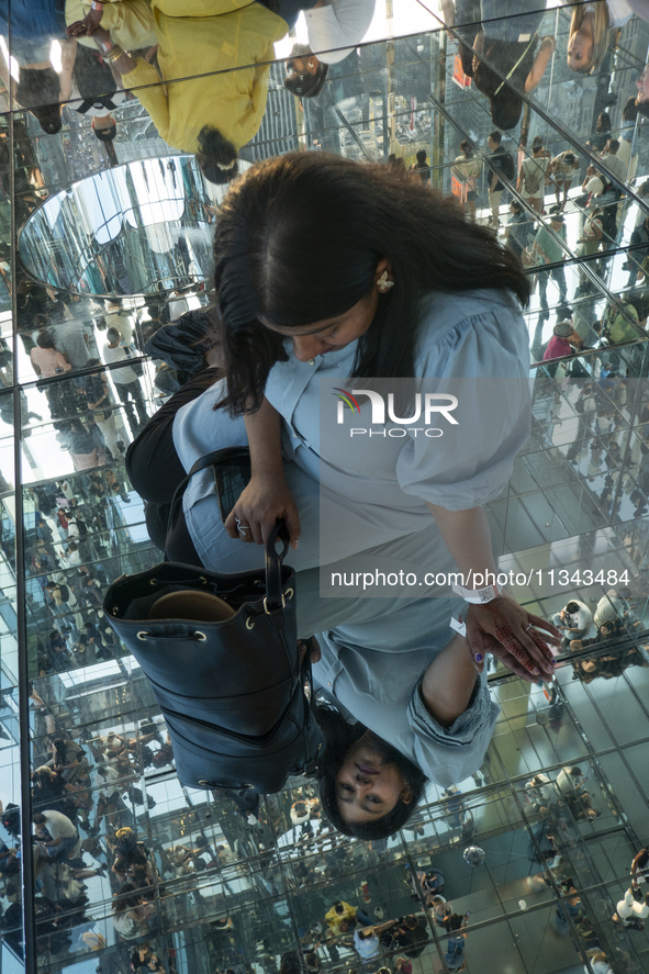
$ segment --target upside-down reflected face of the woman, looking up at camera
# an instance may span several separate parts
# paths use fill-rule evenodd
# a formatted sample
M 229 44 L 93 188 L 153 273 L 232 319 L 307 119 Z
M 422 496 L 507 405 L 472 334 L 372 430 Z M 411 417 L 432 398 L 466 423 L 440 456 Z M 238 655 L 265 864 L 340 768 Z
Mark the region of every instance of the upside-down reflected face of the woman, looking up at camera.
M 400 798 L 406 804 L 412 801 L 401 771 L 383 760 L 367 732 L 347 751 L 335 779 L 338 810 L 346 822 L 376 821 L 392 811 Z

